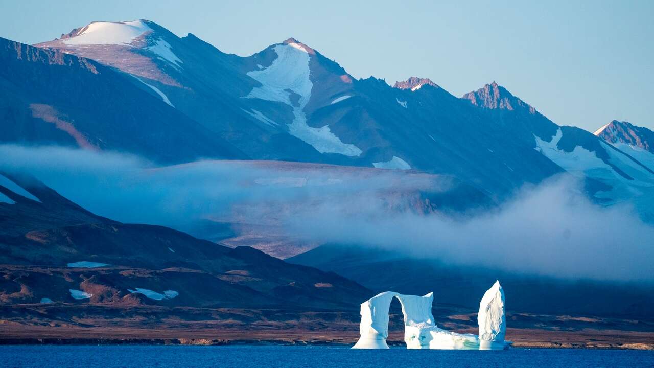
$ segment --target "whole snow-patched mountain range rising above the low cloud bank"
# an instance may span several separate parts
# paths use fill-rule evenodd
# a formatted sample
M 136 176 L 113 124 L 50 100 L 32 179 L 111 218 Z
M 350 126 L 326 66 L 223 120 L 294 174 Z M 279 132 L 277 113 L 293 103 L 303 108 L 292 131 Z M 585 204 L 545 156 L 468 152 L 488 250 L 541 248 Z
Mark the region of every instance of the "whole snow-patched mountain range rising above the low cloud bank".
M 593 161 L 584 165 L 603 166 L 599 175 L 581 168 L 591 195 L 602 192 L 599 201 L 622 200 L 632 180 L 647 176 L 640 181 L 648 186 L 654 175 L 640 161 L 631 168 L 631 158 L 607 151 L 592 134 L 557 126 L 496 83 L 456 98 L 428 79 L 394 87 L 359 80 L 296 39 L 240 57 L 135 20 L 93 22 L 35 45 L 43 51 L 4 43 L 3 60 L 12 65 L 5 90 L 20 91 L 3 107 L 12 130 L 5 141 L 116 149 L 165 162 L 247 157 L 411 168 L 454 175 L 498 200 L 525 183 L 578 170 L 569 162 L 579 152 Z M 65 74 L 60 64 L 69 65 Z M 21 84 L 37 78 L 37 65 L 38 78 L 52 82 Z

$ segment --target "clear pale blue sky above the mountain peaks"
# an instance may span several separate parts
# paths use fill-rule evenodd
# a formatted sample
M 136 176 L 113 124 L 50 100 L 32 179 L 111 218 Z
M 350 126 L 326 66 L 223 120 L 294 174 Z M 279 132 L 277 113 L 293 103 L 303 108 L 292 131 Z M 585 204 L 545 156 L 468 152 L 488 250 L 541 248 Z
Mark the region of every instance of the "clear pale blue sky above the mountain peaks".
M 138 18 L 239 55 L 296 37 L 354 77 L 428 77 L 456 96 L 497 81 L 557 124 L 654 129 L 654 1 L 187 3 L 0 0 L 0 37 Z

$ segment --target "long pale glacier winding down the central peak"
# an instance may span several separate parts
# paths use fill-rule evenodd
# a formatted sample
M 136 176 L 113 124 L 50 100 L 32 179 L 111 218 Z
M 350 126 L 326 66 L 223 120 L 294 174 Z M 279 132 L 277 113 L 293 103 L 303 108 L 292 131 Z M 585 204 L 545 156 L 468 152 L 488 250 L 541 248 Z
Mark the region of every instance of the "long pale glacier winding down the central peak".
M 288 133 L 309 143 L 320 153 L 340 153 L 358 156 L 362 151 L 353 144 L 343 143 L 328 125 L 313 128 L 307 125 L 304 107 L 311 98 L 313 83 L 309 79 L 309 54 L 296 43 L 276 45 L 277 59 L 269 67 L 249 71 L 247 75 L 262 84 L 255 87 L 246 98 L 279 101 L 293 108 L 293 121 L 288 124 Z M 298 105 L 293 105 L 290 92 L 300 95 Z

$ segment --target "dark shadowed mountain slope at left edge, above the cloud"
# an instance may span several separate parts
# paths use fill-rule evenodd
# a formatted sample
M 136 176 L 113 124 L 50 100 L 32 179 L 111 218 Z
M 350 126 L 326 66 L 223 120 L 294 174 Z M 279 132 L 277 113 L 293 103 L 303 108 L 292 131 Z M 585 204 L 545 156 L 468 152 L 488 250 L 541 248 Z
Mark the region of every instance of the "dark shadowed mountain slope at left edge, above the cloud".
M 3 143 L 124 151 L 157 162 L 246 157 L 146 84 L 94 60 L 0 39 L 0 65 Z

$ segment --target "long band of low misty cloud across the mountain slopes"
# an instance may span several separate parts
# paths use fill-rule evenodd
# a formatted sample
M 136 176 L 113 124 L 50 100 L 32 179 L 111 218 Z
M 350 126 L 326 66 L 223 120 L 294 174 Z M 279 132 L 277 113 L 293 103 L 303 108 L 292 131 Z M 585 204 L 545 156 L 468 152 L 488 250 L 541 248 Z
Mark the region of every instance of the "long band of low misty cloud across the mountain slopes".
M 198 219 L 272 221 L 311 242 L 375 246 L 455 264 L 562 278 L 654 279 L 654 227 L 628 206 L 592 204 L 568 175 L 525 188 L 499 208 L 454 219 L 389 199 L 453 185 L 429 175 L 228 161 L 156 168 L 136 156 L 18 145 L 0 145 L 0 157 L 0 170 L 34 175 L 80 206 L 122 222 L 183 229 Z

